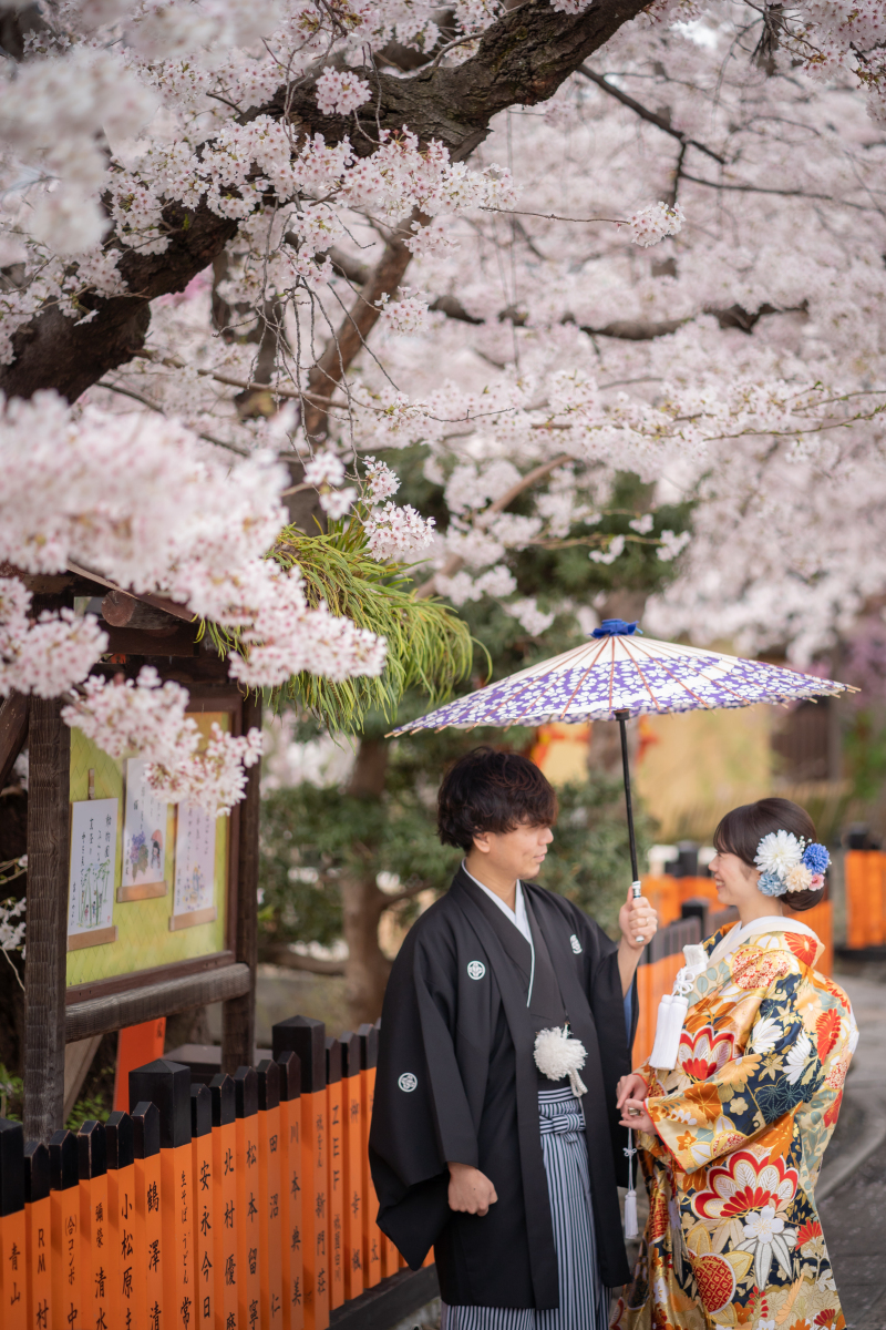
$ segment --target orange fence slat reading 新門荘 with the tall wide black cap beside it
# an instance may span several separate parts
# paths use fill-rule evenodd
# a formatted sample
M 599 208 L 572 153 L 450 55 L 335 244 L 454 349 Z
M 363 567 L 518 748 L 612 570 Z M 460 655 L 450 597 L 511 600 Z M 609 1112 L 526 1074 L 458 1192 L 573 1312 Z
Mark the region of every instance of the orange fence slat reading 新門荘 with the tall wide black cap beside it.
M 327 1241 L 327 1107 L 325 1027 L 311 1016 L 291 1016 L 274 1025 L 274 1056 L 292 1052 L 302 1067 L 302 1261 L 306 1330 L 329 1325 Z

